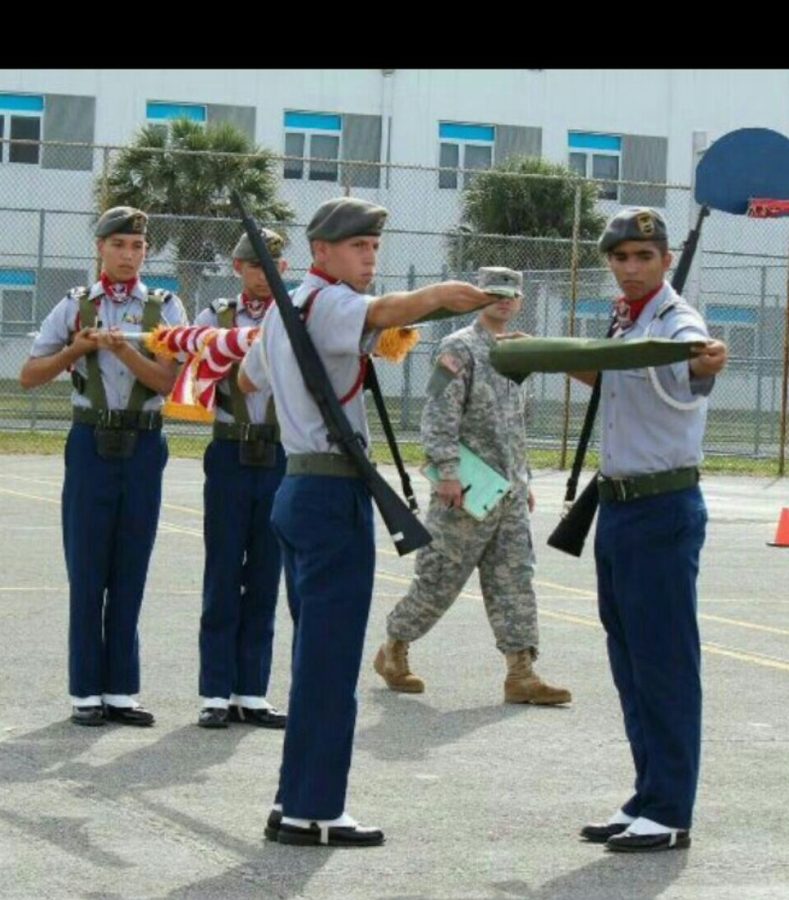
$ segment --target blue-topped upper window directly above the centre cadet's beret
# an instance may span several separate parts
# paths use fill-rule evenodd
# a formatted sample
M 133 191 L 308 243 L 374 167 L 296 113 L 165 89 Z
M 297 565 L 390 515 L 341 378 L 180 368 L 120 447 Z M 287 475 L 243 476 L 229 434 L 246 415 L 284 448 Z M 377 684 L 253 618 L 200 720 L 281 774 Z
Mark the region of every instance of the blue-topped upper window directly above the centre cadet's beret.
M 342 116 L 285 112 L 285 178 L 337 181 Z

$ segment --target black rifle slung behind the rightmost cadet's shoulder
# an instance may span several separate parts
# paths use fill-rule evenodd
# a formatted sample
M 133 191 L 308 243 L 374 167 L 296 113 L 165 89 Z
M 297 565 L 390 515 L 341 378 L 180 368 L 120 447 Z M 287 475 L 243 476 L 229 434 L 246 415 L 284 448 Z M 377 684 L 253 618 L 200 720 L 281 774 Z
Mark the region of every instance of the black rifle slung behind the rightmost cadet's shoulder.
M 674 270 L 674 276 L 671 279 L 671 286 L 679 294 L 685 287 L 690 265 L 696 253 L 696 247 L 701 236 L 701 226 L 706 216 L 710 214 L 708 206 L 703 205 L 699 209 L 699 217 L 696 220 L 695 228 L 691 228 L 685 243 L 682 245 L 682 254 Z M 615 322 L 611 323 L 606 337 L 613 334 Z M 581 435 L 578 438 L 578 448 L 575 451 L 575 459 L 573 460 L 570 477 L 567 479 L 567 490 L 564 495 L 565 505 L 572 503 L 565 514 L 559 520 L 559 524 L 548 536 L 548 546 L 555 550 L 561 550 L 563 553 L 569 553 L 571 556 L 579 556 L 583 552 L 584 542 L 586 541 L 589 530 L 592 527 L 597 505 L 600 501 L 597 491 L 597 472 L 592 476 L 591 481 L 581 491 L 578 499 L 575 499 L 575 492 L 578 488 L 578 477 L 586 456 L 586 448 L 589 444 L 589 438 L 594 427 L 594 420 L 597 416 L 597 407 L 600 404 L 600 386 L 603 380 L 603 373 L 598 372 L 595 378 L 594 387 L 592 388 L 592 396 L 589 398 L 589 406 L 586 408 L 586 416 L 584 424 L 581 428 Z M 575 501 L 575 502 L 573 502 Z

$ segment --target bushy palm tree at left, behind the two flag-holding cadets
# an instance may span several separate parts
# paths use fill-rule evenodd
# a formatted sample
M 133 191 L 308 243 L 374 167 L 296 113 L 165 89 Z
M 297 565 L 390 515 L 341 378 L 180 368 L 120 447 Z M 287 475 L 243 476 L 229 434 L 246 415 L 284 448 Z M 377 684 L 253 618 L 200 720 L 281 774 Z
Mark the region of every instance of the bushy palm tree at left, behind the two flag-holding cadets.
M 95 196 L 100 210 L 134 206 L 152 216 L 149 243 L 172 248 L 179 290 L 191 304 L 205 266 L 229 256 L 241 233 L 231 191 L 260 225 L 282 233 L 293 220 L 277 183 L 271 151 L 236 126 L 177 119 L 140 129 L 99 177 Z

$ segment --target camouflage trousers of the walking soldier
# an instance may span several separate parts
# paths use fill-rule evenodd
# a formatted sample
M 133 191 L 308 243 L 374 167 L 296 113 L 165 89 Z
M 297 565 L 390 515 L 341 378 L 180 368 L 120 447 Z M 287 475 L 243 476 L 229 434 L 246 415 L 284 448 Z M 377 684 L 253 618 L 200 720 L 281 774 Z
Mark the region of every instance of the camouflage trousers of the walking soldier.
M 415 641 L 427 634 L 479 568 L 496 646 L 502 653 L 530 649 L 536 658 L 534 548 L 526 497 L 526 486 L 518 485 L 482 522 L 431 498 L 425 524 L 433 541 L 417 552 L 411 586 L 387 617 L 390 639 Z

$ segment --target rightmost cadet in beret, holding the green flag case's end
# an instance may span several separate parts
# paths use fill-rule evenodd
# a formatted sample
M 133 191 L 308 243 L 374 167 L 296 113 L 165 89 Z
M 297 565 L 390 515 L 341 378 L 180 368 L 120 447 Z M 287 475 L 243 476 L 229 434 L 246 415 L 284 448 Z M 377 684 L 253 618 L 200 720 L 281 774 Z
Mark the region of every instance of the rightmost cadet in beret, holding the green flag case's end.
M 660 213 L 621 210 L 600 250 L 622 290 L 614 340 L 705 346 L 690 362 L 602 376 L 597 593 L 636 779 L 622 807 L 581 835 L 619 852 L 681 849 L 690 845 L 701 750 L 699 465 L 707 397 L 727 351 L 665 281 L 672 256 Z

